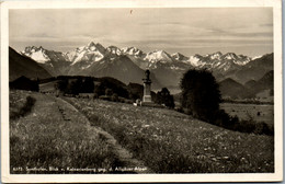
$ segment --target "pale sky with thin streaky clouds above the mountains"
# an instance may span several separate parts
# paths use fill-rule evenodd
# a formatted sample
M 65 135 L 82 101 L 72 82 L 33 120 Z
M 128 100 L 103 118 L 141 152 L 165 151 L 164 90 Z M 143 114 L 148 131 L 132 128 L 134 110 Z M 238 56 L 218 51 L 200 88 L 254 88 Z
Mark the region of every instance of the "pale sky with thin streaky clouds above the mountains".
M 10 10 L 9 45 L 21 51 L 104 47 L 163 49 L 185 56 L 216 51 L 273 53 L 272 8 L 31 9 Z

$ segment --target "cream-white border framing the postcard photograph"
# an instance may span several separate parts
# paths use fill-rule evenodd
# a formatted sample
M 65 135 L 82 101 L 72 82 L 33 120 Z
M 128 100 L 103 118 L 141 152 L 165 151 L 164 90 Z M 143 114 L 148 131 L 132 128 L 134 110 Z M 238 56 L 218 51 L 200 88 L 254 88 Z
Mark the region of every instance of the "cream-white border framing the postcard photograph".
M 179 2 L 179 3 L 178 3 Z M 282 0 L 83 0 L 5 1 L 1 4 L 1 172 L 4 183 L 78 182 L 277 182 L 283 180 Z M 238 174 L 10 174 L 9 10 L 90 8 L 247 8 L 272 7 L 274 25 L 274 173 Z

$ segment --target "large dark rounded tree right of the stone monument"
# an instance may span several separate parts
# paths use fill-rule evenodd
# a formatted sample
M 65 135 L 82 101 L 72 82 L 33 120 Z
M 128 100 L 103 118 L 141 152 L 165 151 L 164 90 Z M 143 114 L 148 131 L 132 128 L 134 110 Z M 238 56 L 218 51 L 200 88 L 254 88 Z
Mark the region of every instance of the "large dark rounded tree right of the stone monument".
M 180 87 L 181 104 L 190 114 L 203 120 L 215 120 L 221 99 L 219 85 L 212 72 L 191 69 L 184 73 Z

